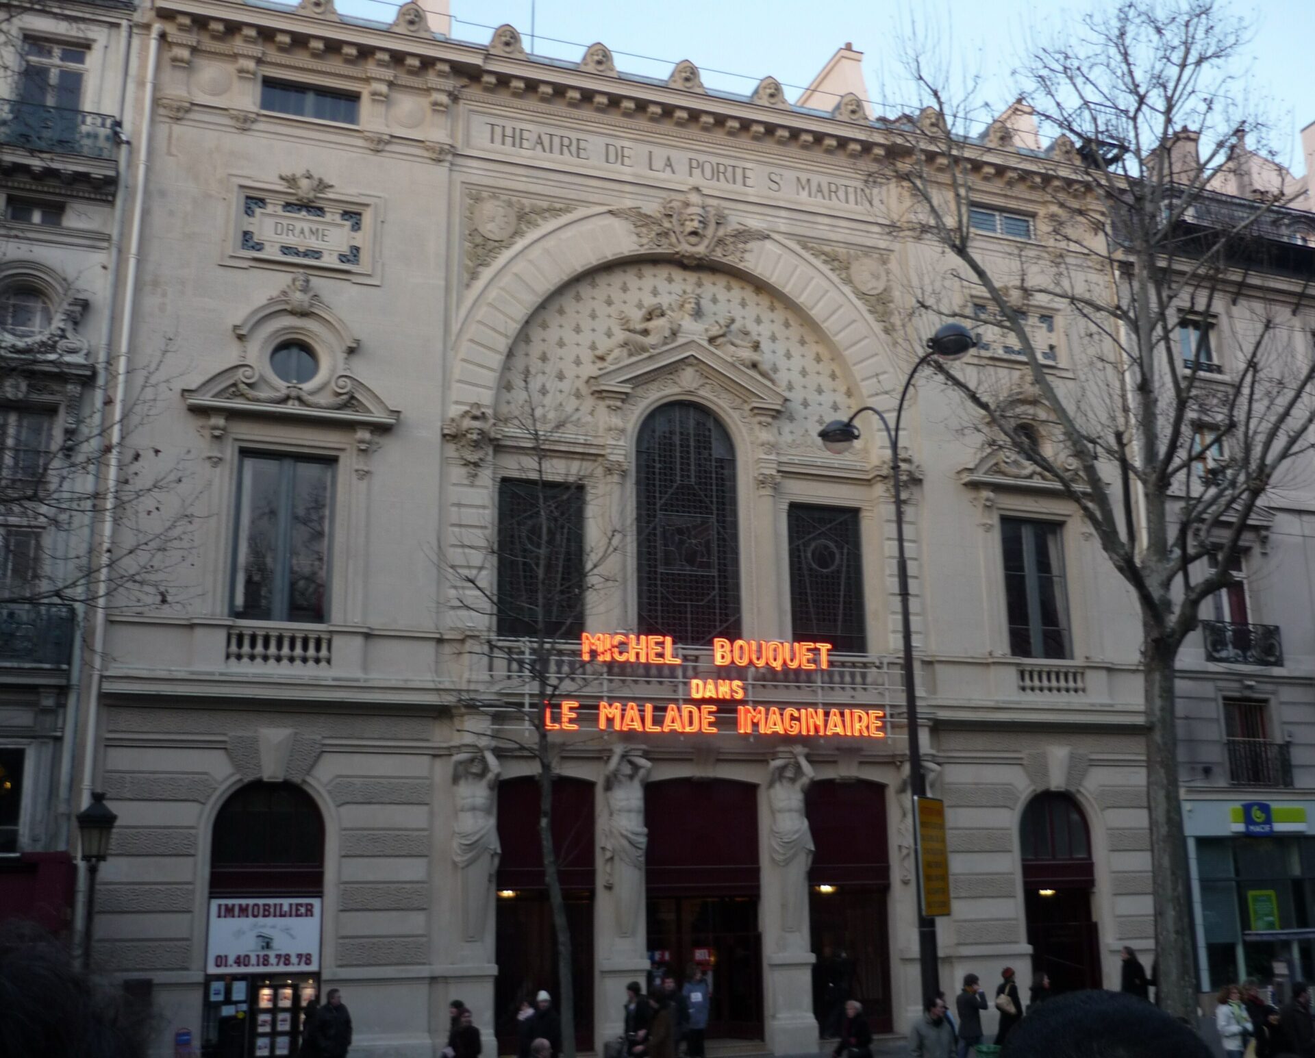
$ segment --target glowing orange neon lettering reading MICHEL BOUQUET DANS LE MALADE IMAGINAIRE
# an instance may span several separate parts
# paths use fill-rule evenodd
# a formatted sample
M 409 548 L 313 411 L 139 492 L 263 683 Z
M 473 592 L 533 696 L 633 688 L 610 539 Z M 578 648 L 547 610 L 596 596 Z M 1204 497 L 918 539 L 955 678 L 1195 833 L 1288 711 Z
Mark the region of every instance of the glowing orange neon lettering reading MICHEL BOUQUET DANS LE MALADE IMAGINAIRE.
M 818 670 L 831 666 L 830 643 L 714 639 L 718 669 Z M 600 665 L 684 665 L 671 636 L 584 632 L 580 660 Z M 885 711 L 852 706 L 773 706 L 747 699 L 743 679 L 690 677 L 688 701 L 544 703 L 547 731 L 635 731 L 650 735 L 782 735 L 819 739 L 885 739 Z

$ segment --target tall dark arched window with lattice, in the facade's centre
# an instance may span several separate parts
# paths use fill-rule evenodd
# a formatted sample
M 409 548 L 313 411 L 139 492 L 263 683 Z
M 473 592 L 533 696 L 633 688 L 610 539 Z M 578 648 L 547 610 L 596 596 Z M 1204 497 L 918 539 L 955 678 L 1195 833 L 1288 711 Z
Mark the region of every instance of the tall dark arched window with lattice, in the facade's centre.
M 740 632 L 735 448 L 705 407 L 656 409 L 636 452 L 639 631 L 677 643 Z

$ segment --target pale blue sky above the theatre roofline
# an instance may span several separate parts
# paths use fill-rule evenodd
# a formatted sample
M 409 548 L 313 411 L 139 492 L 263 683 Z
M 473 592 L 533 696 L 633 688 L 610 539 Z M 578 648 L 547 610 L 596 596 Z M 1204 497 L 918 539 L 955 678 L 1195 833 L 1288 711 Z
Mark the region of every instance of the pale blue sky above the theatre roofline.
M 441 0 L 442 1 L 442 0 Z M 915 101 L 902 83 L 896 37 L 910 13 L 936 26 L 935 46 L 981 78 L 984 103 L 1003 109 L 1016 96 L 1011 71 L 1028 35 L 1064 26 L 1090 0 L 447 0 L 452 37 L 487 43 L 492 29 L 512 22 L 533 51 L 580 59 L 594 41 L 611 49 L 618 68 L 671 74 L 690 59 L 710 88 L 752 92 L 764 76 L 786 85 L 790 99 L 832 53 L 852 42 L 864 53 L 869 97 L 877 113 L 898 113 Z M 1251 60 L 1236 71 L 1273 126 L 1279 160 L 1304 170 L 1299 130 L 1315 121 L 1315 0 L 1230 3 L 1255 25 Z M 338 0 L 345 13 L 391 21 L 397 0 Z M 533 20 L 531 20 L 533 16 Z M 722 72 L 714 72 L 722 71 Z

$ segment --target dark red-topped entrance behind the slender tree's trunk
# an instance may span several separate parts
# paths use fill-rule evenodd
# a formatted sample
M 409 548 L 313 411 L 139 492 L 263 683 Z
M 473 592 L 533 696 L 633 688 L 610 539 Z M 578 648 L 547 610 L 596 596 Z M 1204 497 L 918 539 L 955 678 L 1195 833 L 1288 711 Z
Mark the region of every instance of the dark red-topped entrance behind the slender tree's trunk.
M 493 1024 L 498 1050 L 517 1051 L 517 1009 L 544 988 L 560 1001 L 556 931 L 548 904 L 548 881 L 539 840 L 539 778 L 498 783 L 497 835 L 497 982 Z M 571 978 L 575 991 L 576 1049 L 593 1049 L 593 783 L 559 775 L 552 782 L 552 848 L 565 895 L 571 929 Z

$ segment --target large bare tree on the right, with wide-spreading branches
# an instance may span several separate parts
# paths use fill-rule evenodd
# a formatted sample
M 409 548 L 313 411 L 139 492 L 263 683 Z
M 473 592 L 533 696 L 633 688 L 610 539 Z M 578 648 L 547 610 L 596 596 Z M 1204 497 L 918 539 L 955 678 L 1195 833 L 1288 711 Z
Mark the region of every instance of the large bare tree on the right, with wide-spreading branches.
M 928 105 L 884 122 L 871 173 L 888 233 L 932 248 L 910 323 L 957 315 L 990 346 L 938 364 L 945 384 L 1019 476 L 1081 511 L 1136 598 L 1159 995 L 1185 1017 L 1174 666 L 1201 603 L 1233 582 L 1257 506 L 1299 486 L 1315 414 L 1315 268 L 1290 226 L 1308 214 L 1285 209 L 1286 171 L 1253 150 L 1232 80 L 1245 45 L 1216 0 L 1102 5 L 1035 49 L 1019 103 L 985 133 L 909 47 Z M 1226 310 L 1227 334 L 1212 329 Z

